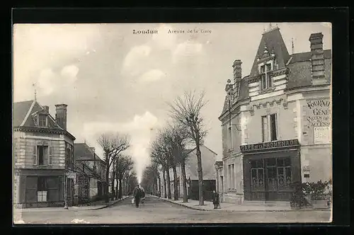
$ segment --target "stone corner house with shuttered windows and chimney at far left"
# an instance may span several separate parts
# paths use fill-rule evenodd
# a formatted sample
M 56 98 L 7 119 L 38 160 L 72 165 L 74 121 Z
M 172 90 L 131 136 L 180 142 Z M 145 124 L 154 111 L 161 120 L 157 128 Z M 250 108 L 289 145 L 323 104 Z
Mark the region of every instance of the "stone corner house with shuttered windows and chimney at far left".
M 67 131 L 67 105 L 13 103 L 13 203 L 16 207 L 72 205 L 74 139 Z M 65 185 L 67 186 L 65 188 Z

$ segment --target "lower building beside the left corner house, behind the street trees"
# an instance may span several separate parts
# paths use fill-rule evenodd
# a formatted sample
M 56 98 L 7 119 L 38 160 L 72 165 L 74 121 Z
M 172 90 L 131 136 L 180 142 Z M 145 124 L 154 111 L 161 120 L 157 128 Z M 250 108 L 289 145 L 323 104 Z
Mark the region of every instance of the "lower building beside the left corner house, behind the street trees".
M 77 203 L 100 200 L 105 195 L 105 161 L 86 143 L 74 144 Z

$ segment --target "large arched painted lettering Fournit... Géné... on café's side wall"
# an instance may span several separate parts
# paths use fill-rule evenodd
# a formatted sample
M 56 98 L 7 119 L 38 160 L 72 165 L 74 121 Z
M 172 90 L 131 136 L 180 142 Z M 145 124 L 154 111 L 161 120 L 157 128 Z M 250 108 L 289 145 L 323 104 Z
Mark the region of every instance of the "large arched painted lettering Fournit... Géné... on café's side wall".
M 324 127 L 331 124 L 331 101 L 318 99 L 307 101 L 307 121 L 313 127 Z

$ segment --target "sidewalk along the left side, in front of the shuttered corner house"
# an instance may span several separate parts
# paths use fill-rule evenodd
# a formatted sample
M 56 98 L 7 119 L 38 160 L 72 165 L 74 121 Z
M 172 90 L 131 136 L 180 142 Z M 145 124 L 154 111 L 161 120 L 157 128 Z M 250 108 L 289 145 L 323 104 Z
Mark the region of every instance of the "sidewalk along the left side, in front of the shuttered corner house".
M 106 207 L 110 207 L 120 202 L 121 200 L 125 200 L 129 196 L 123 196 L 120 200 L 112 200 L 110 202 L 98 201 L 92 202 L 91 205 L 79 205 L 74 207 L 69 207 L 69 209 L 64 209 L 64 207 L 35 207 L 35 208 L 23 208 L 23 209 L 14 209 L 14 212 L 22 213 L 22 212 L 55 212 L 55 211 L 79 211 L 79 210 L 99 210 Z M 92 205 L 93 204 L 93 205 Z

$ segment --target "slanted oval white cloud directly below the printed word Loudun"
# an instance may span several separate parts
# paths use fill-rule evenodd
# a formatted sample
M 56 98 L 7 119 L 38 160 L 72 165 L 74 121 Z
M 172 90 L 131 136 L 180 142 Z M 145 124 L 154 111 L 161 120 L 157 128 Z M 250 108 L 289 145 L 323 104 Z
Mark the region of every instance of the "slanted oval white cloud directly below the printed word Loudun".
M 127 53 L 123 64 L 122 64 L 122 73 L 126 75 L 137 75 L 140 72 L 140 67 L 144 64 L 144 60 L 149 57 L 150 52 L 152 51 L 151 47 L 147 45 L 139 45 L 132 47 L 130 52 Z

